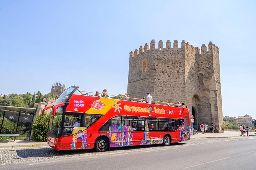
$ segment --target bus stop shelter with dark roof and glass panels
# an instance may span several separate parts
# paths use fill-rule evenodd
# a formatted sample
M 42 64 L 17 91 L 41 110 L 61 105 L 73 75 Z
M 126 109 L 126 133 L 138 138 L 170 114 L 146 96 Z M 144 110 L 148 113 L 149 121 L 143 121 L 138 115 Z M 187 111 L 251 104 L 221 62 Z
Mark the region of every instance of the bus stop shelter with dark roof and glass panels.
M 31 125 L 36 108 L 0 106 L 0 140 L 10 140 L 11 134 L 19 134 L 18 139 L 30 140 Z

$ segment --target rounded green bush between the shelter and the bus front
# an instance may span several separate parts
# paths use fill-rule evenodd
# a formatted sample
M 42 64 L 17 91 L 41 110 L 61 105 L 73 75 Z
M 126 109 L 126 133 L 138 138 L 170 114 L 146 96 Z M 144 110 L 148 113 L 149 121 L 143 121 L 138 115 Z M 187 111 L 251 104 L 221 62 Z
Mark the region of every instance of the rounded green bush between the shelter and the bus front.
M 46 142 L 51 114 L 39 115 L 32 122 L 32 136 L 35 142 Z

